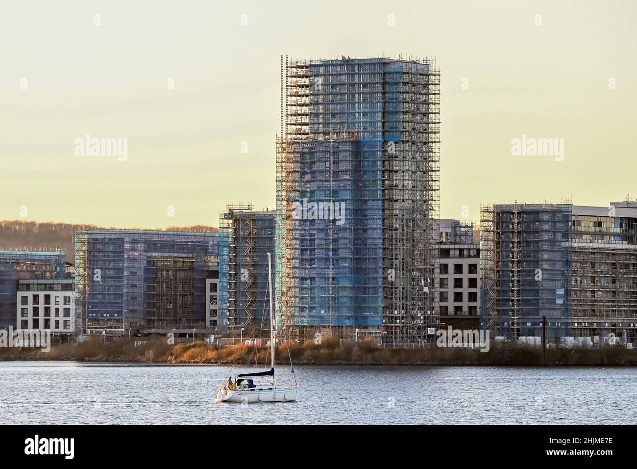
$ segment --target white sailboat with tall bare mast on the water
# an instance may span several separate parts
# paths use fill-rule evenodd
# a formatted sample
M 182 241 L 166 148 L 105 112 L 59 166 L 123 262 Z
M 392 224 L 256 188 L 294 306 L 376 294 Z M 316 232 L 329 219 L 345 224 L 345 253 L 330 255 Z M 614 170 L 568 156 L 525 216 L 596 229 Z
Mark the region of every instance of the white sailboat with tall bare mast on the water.
M 272 306 L 272 264 L 271 255 L 268 253 L 268 291 L 270 297 L 270 361 L 271 368 L 267 371 L 255 373 L 243 373 L 227 382 L 222 383 L 217 391 L 217 402 L 283 402 L 296 401 L 296 392 L 299 383 L 294 378 L 294 385 L 280 386 L 275 384 L 275 321 Z M 290 366 L 292 358 L 290 357 Z M 292 368 L 294 376 L 294 368 Z

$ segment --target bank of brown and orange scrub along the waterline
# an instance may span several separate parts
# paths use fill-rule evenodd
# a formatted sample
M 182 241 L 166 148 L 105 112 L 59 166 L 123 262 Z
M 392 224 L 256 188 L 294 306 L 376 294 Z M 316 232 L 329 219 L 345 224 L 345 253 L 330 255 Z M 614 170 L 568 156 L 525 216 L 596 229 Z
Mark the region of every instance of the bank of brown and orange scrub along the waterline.
M 308 341 L 290 344 L 295 364 L 316 365 L 441 365 L 441 366 L 538 366 L 540 348 L 514 343 L 492 343 L 487 353 L 466 348 L 377 348 L 371 341 L 340 345 L 327 338 L 320 345 Z M 287 347 L 277 350 L 277 362 L 288 363 Z M 164 339 L 152 338 L 143 346 L 134 340 L 119 339 L 103 343 L 92 338 L 81 344 L 52 345 L 50 352 L 38 349 L 0 349 L 0 361 L 74 360 L 97 362 L 211 363 L 265 365 L 269 352 L 250 345 L 219 347 L 203 342 L 168 345 Z M 547 366 L 637 366 L 637 350 L 620 347 L 548 348 Z

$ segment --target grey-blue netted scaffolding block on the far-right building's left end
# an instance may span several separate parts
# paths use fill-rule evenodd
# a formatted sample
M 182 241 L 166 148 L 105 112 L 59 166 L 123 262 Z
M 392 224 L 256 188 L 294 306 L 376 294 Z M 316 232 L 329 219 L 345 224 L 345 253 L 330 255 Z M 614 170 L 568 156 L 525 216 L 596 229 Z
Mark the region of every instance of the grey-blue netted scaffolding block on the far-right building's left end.
M 484 327 L 517 339 L 568 336 L 571 318 L 572 204 L 482 205 Z

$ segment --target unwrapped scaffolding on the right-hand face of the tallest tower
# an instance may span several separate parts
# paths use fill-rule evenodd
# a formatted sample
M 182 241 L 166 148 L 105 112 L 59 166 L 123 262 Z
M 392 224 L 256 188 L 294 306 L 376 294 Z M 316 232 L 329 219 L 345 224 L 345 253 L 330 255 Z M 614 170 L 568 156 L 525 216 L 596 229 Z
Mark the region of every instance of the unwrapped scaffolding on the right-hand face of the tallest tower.
M 383 256 L 396 280 L 383 284 L 387 341 L 425 341 L 437 328 L 434 282 L 440 236 L 440 71 L 429 63 L 385 67 Z

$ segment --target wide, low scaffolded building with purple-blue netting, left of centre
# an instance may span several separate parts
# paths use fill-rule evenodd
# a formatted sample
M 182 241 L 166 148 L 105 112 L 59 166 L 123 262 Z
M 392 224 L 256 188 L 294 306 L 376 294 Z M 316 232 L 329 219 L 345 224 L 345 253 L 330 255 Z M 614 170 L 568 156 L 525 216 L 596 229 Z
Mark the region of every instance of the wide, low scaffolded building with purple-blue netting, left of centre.
M 203 328 L 218 247 L 216 233 L 78 230 L 76 334 Z

